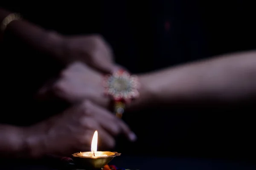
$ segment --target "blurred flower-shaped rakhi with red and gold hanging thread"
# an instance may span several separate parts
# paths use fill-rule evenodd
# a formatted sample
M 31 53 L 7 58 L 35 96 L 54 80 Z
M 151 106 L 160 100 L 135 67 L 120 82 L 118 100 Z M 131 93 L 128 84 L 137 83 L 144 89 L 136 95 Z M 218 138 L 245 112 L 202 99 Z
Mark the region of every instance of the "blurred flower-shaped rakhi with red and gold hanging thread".
M 116 117 L 122 118 L 125 104 L 131 102 L 139 96 L 140 86 L 138 77 L 129 74 L 123 69 L 119 69 L 112 75 L 107 75 L 104 79 L 105 94 L 114 100 Z

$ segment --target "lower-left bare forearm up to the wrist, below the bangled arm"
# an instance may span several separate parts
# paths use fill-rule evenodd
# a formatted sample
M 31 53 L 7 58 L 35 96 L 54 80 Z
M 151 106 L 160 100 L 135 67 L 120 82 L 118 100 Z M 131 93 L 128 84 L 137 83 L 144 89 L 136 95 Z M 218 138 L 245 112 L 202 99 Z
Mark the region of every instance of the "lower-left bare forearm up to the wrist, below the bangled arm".
M 30 127 L 0 125 L 0 157 L 40 158 L 49 154 L 47 132 L 56 116 Z

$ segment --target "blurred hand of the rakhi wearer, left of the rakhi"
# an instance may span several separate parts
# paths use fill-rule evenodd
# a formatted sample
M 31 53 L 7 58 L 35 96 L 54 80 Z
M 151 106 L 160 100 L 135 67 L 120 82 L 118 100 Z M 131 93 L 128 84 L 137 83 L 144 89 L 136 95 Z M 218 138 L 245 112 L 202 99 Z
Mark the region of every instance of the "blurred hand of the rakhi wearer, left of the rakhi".
M 111 99 L 109 96 L 105 96 L 102 81 L 102 74 L 82 62 L 73 62 L 61 72 L 57 81 L 41 88 L 39 96 L 45 98 L 45 96 L 50 96 L 49 94 L 53 93 L 70 103 L 87 99 L 108 108 Z

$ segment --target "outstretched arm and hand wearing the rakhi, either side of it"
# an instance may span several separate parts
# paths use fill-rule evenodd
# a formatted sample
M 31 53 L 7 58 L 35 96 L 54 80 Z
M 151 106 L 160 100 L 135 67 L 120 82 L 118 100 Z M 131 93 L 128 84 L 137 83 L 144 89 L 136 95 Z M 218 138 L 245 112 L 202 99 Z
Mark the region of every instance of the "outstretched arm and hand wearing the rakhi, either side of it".
M 138 75 L 140 97 L 127 105 L 127 109 L 163 104 L 216 105 L 255 101 L 255 56 L 256 51 L 225 54 Z M 71 103 L 88 99 L 107 108 L 110 98 L 104 96 L 103 77 L 87 65 L 74 62 L 64 69 L 54 85 L 43 88 L 41 94 L 53 91 Z

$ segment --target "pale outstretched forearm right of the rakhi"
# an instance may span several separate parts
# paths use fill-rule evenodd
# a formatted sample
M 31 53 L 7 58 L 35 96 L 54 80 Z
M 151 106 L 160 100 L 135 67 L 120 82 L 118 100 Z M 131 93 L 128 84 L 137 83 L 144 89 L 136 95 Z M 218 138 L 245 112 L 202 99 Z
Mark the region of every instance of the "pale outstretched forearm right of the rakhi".
M 139 77 L 146 90 L 131 107 L 152 100 L 168 104 L 239 102 L 256 97 L 256 51 L 218 56 Z

